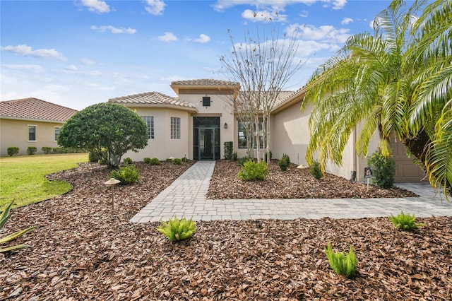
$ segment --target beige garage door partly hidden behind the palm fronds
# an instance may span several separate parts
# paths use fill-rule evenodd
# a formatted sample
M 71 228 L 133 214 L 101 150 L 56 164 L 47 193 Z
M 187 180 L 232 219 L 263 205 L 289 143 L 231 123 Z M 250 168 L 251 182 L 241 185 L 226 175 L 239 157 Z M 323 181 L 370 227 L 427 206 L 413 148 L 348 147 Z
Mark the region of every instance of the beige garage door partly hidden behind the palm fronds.
M 403 143 L 400 141 L 391 142 L 391 148 L 393 149 L 394 160 L 396 160 L 396 175 L 394 177 L 396 182 L 427 181 L 427 179 L 424 179 L 424 171 L 412 163 L 415 156 L 408 158 Z

